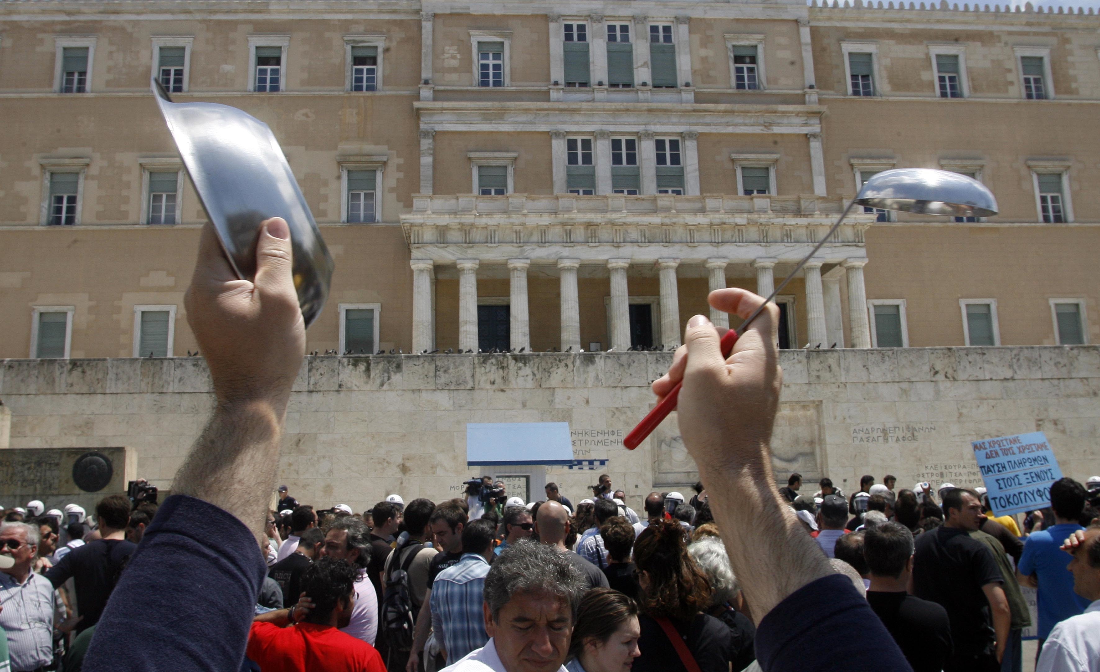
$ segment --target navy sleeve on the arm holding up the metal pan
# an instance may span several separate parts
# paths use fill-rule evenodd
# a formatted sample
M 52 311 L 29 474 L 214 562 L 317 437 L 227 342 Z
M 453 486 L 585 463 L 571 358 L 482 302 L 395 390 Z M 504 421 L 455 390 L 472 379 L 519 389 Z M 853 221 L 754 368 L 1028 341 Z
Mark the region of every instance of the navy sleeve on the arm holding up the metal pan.
M 107 603 L 84 670 L 239 670 L 266 575 L 234 516 L 168 497 Z

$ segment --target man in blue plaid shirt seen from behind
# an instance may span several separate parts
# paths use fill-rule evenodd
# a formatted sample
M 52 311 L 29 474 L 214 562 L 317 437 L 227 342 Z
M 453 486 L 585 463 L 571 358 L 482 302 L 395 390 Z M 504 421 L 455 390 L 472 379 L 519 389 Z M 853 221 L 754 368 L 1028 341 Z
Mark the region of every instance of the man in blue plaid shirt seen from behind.
M 436 576 L 431 588 L 431 627 L 443 642 L 447 664 L 452 665 L 488 641 L 485 632 L 485 576 L 493 553 L 496 526 L 474 520 L 462 530 L 462 558 Z

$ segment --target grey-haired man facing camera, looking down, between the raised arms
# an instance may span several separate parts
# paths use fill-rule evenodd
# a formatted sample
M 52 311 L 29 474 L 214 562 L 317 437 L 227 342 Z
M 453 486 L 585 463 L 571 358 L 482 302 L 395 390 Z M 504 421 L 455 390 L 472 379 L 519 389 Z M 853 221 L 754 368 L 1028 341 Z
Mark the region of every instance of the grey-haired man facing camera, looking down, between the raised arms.
M 564 672 L 573 615 L 586 590 L 581 573 L 553 547 L 512 544 L 485 576 L 490 640 L 444 672 Z

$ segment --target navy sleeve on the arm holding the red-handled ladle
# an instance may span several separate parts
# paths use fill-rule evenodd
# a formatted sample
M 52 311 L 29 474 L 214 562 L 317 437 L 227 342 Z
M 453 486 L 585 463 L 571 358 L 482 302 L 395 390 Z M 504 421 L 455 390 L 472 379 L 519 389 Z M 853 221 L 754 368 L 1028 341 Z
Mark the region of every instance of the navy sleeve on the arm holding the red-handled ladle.
M 912 670 L 843 574 L 802 586 L 769 612 L 757 629 L 756 653 L 765 672 Z

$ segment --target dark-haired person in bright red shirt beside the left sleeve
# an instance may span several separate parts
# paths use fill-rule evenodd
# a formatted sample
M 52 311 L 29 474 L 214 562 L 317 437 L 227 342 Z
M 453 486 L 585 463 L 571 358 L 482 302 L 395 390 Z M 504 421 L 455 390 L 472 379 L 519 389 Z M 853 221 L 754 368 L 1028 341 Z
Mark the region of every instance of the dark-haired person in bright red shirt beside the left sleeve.
M 248 657 L 264 672 L 386 672 L 374 647 L 338 629 L 351 620 L 356 579 L 342 560 L 315 562 L 301 577 L 309 599 L 256 616 Z

